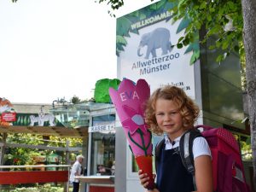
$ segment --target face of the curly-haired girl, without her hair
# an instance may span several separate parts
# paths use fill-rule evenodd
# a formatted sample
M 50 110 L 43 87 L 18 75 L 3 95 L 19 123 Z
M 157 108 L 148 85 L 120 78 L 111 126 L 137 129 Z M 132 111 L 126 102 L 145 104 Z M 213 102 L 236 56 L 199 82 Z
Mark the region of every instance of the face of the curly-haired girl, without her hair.
M 158 99 L 155 102 L 155 118 L 160 129 L 173 141 L 183 132 L 183 118 L 177 104 L 172 100 Z

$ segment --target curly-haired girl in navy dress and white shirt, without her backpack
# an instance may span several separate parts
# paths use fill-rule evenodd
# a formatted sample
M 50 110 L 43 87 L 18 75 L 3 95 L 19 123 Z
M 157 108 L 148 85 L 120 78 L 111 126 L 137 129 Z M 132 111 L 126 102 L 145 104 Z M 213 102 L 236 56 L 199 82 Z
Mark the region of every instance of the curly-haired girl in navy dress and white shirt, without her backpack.
M 190 192 L 195 191 L 193 176 L 183 166 L 177 153 L 180 137 L 188 129 L 193 129 L 199 115 L 199 108 L 175 86 L 166 85 L 154 91 L 146 108 L 146 123 L 151 131 L 161 135 L 166 133 L 166 142 L 157 162 L 156 188 L 147 192 Z M 196 137 L 193 143 L 195 160 L 195 185 L 199 192 L 212 192 L 211 151 L 204 137 Z M 138 172 L 144 188 L 148 177 L 142 170 Z

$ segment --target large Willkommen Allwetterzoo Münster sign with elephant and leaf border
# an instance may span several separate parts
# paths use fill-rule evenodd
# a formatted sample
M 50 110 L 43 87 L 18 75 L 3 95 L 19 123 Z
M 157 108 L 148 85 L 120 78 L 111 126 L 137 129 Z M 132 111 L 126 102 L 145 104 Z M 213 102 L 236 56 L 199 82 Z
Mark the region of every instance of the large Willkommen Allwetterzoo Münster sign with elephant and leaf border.
M 177 49 L 188 20 L 173 23 L 168 9 L 173 3 L 160 1 L 117 19 L 116 54 L 118 78 L 146 79 L 150 90 L 176 85 L 195 99 L 194 65 L 199 45 Z

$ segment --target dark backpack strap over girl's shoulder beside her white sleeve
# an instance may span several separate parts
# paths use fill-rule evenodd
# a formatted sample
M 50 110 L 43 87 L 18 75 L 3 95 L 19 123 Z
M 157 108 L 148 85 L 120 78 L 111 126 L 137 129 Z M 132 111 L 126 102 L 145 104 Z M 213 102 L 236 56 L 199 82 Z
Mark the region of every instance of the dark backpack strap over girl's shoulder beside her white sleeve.
M 201 132 L 196 129 L 186 131 L 179 141 L 180 156 L 183 161 L 183 166 L 193 176 L 195 175 L 193 142 L 196 137 L 202 137 Z

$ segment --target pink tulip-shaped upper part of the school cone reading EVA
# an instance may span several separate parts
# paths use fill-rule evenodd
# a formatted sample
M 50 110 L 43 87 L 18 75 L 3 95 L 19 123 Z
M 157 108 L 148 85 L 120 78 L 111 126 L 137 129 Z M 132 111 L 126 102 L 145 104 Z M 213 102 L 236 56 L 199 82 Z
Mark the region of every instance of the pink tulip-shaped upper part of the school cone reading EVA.
M 109 96 L 114 104 L 125 131 L 125 137 L 135 156 L 152 155 L 151 132 L 144 121 L 144 108 L 150 96 L 148 83 L 139 79 L 134 84 L 124 79 L 118 90 L 109 89 Z

